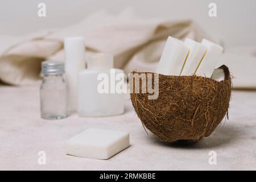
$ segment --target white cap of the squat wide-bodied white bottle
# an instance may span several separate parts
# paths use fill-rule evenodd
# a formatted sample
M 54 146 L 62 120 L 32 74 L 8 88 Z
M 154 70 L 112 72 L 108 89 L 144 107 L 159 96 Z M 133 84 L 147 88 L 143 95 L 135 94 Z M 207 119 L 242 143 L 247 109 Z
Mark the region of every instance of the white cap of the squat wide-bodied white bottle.
M 114 68 L 113 55 L 109 53 L 96 53 L 89 56 L 87 68 L 93 70 Z

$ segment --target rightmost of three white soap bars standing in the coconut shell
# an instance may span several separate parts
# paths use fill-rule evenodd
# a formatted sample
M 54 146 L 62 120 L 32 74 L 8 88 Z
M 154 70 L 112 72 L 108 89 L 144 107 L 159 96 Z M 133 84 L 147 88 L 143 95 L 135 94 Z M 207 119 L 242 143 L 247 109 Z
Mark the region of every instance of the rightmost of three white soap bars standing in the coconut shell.
M 216 68 L 218 56 L 221 55 L 223 48 L 206 39 L 203 39 L 201 44 L 207 47 L 207 52 L 205 53 L 204 58 L 201 60 L 199 67 L 197 67 L 195 74 L 210 78 L 214 69 Z

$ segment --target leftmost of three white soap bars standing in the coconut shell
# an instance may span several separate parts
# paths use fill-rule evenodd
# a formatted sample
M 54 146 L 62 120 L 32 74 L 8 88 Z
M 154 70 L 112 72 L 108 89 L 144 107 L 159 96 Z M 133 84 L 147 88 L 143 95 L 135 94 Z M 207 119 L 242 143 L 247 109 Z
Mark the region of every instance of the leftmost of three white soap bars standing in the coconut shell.
M 187 55 L 188 48 L 184 46 L 184 43 L 169 36 L 156 73 L 179 76 Z

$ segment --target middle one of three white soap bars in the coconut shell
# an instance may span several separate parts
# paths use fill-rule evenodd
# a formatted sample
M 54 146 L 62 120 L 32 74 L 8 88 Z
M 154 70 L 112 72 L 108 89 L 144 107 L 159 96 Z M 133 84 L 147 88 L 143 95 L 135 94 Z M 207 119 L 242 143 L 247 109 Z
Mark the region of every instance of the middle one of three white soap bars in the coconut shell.
M 185 39 L 184 44 L 188 47 L 189 53 L 181 71 L 181 75 L 191 76 L 195 73 L 197 66 L 207 51 L 207 47 L 192 39 Z

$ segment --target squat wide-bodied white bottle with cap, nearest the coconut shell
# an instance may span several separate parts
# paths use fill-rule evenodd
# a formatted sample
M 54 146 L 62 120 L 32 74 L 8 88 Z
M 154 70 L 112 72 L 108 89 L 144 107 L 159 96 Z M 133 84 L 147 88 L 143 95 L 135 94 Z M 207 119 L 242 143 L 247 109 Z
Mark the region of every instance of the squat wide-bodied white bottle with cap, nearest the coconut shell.
M 78 77 L 78 113 L 80 117 L 104 117 L 124 112 L 125 84 L 121 69 L 113 69 L 113 55 L 97 53 L 87 60 L 87 69 Z M 118 85 L 119 86 L 118 86 Z

